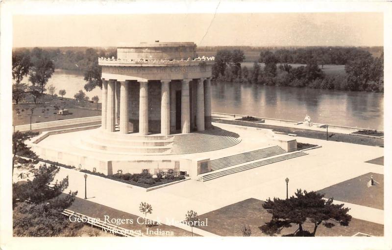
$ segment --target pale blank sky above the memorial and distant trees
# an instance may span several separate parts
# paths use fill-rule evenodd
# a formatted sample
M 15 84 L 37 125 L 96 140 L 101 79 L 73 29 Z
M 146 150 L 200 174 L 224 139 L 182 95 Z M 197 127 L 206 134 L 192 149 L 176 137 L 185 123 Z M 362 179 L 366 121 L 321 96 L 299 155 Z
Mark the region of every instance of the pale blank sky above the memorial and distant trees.
M 13 47 L 119 47 L 140 42 L 197 46 L 383 46 L 382 13 L 23 15 Z

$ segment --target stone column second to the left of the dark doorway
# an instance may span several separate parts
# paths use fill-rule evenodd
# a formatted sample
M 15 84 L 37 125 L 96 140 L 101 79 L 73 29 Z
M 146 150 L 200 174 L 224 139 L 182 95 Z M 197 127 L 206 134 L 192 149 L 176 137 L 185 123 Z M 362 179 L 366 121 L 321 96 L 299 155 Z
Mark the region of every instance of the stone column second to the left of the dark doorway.
M 148 134 L 148 82 L 141 81 L 139 92 L 139 133 Z

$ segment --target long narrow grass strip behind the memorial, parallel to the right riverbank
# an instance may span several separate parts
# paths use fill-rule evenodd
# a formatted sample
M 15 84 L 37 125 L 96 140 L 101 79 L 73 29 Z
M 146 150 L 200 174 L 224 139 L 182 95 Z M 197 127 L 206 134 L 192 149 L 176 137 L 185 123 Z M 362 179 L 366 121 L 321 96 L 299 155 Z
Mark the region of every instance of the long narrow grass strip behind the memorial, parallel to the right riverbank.
M 273 125 L 265 125 L 260 123 L 245 123 L 243 121 L 229 121 L 229 120 L 221 120 L 221 119 L 213 119 L 213 122 L 273 129 L 274 131 L 277 132 L 296 134 L 299 137 L 307 137 L 307 138 L 314 138 L 314 139 L 321 139 L 321 140 L 325 140 L 326 137 L 326 132 L 303 129 L 303 128 L 273 126 Z M 347 142 L 347 143 L 354 143 L 354 144 L 361 144 L 361 145 L 368 145 L 368 146 L 384 147 L 384 140 L 353 136 L 349 134 L 335 133 L 335 135 L 329 137 L 328 140 L 335 141 L 335 142 Z

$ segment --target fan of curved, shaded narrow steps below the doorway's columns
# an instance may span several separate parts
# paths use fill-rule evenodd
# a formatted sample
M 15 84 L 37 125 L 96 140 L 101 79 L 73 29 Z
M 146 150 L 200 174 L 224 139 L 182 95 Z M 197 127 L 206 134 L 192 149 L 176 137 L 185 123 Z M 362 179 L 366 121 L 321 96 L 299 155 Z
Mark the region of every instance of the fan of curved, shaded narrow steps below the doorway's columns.
M 232 147 L 240 138 L 224 134 L 190 133 L 174 135 L 171 154 L 188 154 Z

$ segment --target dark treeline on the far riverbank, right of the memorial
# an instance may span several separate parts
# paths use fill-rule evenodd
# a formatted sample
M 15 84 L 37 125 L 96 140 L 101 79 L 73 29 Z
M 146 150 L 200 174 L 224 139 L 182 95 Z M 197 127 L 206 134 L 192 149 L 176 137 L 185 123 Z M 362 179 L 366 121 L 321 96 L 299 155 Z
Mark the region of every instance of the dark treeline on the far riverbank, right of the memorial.
M 359 48 L 262 50 L 251 69 L 241 67 L 244 61 L 242 50 L 219 50 L 213 66 L 213 79 L 272 86 L 384 91 L 383 52 L 374 58 L 369 51 Z M 264 68 L 259 62 L 264 63 Z M 293 67 L 289 63 L 305 66 Z M 325 75 L 319 68 L 324 64 L 344 64 L 345 75 Z

